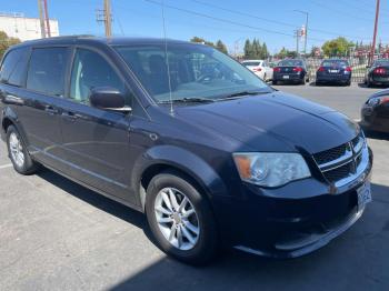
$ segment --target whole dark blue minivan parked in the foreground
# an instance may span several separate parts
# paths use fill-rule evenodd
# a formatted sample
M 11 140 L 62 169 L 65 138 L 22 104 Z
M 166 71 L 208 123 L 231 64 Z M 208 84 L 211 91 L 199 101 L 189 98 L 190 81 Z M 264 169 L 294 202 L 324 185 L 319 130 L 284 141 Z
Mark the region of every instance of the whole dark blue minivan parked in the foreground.
M 358 124 L 202 44 L 18 44 L 1 62 L 0 121 L 16 171 L 44 165 L 144 212 L 158 247 L 187 263 L 223 247 L 309 253 L 371 200 Z

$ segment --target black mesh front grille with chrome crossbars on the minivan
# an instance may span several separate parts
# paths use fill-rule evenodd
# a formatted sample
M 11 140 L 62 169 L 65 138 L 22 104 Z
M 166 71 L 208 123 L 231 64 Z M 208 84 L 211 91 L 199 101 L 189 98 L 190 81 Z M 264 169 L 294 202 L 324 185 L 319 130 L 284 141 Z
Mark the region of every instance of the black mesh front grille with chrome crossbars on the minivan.
M 350 142 L 321 151 L 313 154 L 317 162 L 328 182 L 342 185 L 348 180 L 357 177 L 359 172 L 368 164 L 368 150 L 365 136 L 361 132 Z M 365 168 L 366 168 L 365 167 Z

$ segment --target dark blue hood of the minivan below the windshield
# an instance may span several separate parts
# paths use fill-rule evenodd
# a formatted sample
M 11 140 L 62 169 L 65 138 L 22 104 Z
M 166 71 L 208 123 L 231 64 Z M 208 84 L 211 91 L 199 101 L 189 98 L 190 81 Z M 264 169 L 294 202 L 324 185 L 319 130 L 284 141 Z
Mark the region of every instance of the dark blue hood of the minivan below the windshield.
M 282 92 L 180 107 L 176 113 L 182 121 L 229 136 L 253 151 L 316 153 L 350 141 L 359 131 L 346 116 Z

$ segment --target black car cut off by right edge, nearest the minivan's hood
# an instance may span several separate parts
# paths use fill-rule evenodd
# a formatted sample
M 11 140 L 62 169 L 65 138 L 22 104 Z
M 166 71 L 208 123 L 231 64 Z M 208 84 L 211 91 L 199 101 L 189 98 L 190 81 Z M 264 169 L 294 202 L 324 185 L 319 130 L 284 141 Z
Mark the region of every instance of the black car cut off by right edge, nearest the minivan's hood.
M 389 132 L 389 90 L 377 92 L 365 102 L 361 126 L 370 131 Z

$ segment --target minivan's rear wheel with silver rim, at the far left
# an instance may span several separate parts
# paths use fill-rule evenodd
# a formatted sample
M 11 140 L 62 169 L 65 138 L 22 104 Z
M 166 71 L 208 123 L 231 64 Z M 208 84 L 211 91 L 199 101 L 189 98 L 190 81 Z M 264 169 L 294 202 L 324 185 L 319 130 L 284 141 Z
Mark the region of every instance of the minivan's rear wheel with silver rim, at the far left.
M 20 174 L 33 174 L 38 170 L 38 164 L 31 159 L 26 144 L 14 126 L 7 129 L 8 155 L 13 164 L 13 169 Z

